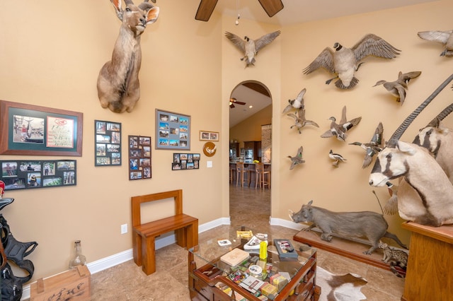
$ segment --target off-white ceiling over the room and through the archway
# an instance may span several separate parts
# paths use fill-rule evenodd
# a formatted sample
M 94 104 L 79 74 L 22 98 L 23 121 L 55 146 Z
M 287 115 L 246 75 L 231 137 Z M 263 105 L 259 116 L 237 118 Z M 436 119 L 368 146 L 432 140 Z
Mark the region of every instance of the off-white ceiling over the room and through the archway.
M 241 15 L 239 24 L 241 24 L 241 19 L 247 19 L 256 20 L 260 23 L 291 25 L 433 1 L 436 0 L 282 0 L 284 6 L 282 11 L 269 18 L 258 0 L 219 0 L 215 11 L 235 18 L 239 11 Z M 296 96 L 294 95 L 294 97 Z M 230 127 L 262 110 L 272 102 L 270 98 L 263 94 L 242 85 L 232 92 L 231 97 L 247 102 L 247 105 L 236 105 L 229 110 Z M 249 105 L 253 105 L 253 108 L 249 109 Z

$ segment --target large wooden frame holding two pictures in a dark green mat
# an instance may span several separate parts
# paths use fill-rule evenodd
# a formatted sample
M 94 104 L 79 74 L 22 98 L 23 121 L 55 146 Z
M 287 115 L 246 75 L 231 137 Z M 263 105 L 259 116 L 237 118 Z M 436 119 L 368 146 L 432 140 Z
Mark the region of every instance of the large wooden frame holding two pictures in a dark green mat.
M 82 155 L 84 114 L 0 100 L 0 154 Z

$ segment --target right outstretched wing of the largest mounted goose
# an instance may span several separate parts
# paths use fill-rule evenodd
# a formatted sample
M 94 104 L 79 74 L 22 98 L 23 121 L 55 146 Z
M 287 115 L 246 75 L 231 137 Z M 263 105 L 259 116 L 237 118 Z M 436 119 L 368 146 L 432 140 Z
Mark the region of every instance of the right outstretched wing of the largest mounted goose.
M 394 59 L 396 54 L 401 52 L 400 49 L 393 47 L 389 42 L 382 39 L 382 37 L 378 37 L 372 33 L 362 37 L 362 40 L 357 42 L 351 49 L 355 54 L 355 60 L 357 62 L 369 55 L 382 57 L 383 59 Z

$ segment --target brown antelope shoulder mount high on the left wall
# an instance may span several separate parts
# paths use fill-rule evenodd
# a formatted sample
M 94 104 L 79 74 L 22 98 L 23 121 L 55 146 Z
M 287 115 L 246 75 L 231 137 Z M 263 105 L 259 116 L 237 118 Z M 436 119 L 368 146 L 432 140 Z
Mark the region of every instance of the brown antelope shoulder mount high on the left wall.
M 98 76 L 98 98 L 101 107 L 112 112 L 132 112 L 140 98 L 139 71 L 142 64 L 140 36 L 148 24 L 156 22 L 159 7 L 145 0 L 135 6 L 132 0 L 110 0 L 121 20 L 120 34 L 113 48 L 112 59 L 104 64 Z M 153 1 L 155 2 L 155 1 Z

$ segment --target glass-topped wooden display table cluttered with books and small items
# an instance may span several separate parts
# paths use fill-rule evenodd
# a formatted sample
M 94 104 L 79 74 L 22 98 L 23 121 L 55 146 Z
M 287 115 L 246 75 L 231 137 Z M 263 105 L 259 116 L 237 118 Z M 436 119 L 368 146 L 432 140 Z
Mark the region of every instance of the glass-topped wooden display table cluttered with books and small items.
M 253 230 L 252 232 L 256 233 Z M 265 261 L 261 259 L 256 261 L 259 249 L 247 250 L 250 252 L 250 257 L 239 266 L 231 267 L 220 260 L 220 257 L 231 249 L 243 249 L 248 240 L 237 237 L 234 229 L 220 234 L 218 239 L 228 239 L 231 245 L 220 247 L 217 240 L 208 240 L 188 249 L 191 300 L 241 300 L 239 295 L 243 297 L 242 300 L 263 300 L 258 297 L 259 293 L 253 294 L 231 280 L 232 273 L 250 264 L 262 266 L 263 271 L 269 271 L 268 275 L 264 273 L 263 276 L 258 276 L 263 282 L 268 282 L 270 276 L 277 273 L 290 277 L 290 281 L 286 285 L 280 286 L 276 293 L 270 295 L 269 300 L 318 300 L 321 288 L 316 285 L 316 249 L 294 240 L 288 240 L 298 254 L 297 259 L 280 259 L 277 249 L 273 246 L 273 237 L 268 235 L 268 258 Z

